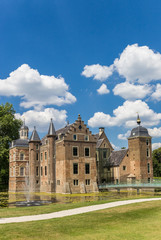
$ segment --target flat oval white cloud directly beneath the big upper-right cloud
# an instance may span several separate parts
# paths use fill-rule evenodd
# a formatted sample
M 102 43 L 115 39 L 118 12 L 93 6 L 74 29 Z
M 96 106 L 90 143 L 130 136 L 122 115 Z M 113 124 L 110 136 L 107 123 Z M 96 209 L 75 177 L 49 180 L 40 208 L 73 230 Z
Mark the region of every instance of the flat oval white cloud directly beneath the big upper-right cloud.
M 114 95 L 119 95 L 124 99 L 135 100 L 142 99 L 149 95 L 152 87 L 145 85 L 134 85 L 129 82 L 117 84 L 113 89 Z

